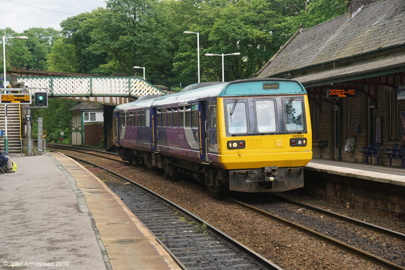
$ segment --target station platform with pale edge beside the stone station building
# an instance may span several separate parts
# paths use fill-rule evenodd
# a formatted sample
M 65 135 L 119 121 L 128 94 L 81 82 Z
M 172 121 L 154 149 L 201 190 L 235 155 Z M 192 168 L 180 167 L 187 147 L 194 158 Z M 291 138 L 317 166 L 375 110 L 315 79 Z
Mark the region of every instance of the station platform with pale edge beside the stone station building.
M 405 186 L 405 169 L 372 165 L 364 163 L 353 163 L 327 159 L 312 159 L 305 169 L 370 180 L 373 182 L 387 183 L 398 186 Z

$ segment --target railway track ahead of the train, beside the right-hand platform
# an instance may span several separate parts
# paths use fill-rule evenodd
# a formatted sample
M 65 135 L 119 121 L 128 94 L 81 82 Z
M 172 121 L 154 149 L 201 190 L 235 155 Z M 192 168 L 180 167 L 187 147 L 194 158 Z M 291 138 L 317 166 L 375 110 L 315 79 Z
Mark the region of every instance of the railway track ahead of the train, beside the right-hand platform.
M 128 164 L 128 163 L 127 163 Z M 257 199 L 257 197 L 255 197 Z M 361 257 L 365 259 L 366 261 L 370 261 L 375 263 L 376 265 L 380 265 L 381 267 L 384 267 L 386 269 L 405 269 L 405 261 L 403 259 L 403 253 L 401 256 L 401 250 L 398 251 L 392 251 L 389 247 L 392 245 L 402 245 L 403 248 L 405 248 L 404 244 L 405 243 L 405 235 L 387 230 L 385 228 L 381 228 L 378 226 L 374 226 L 373 224 L 366 223 L 363 221 L 359 221 L 353 218 L 349 218 L 340 214 L 332 213 L 331 211 L 323 210 L 321 208 L 316 208 L 312 207 L 307 204 L 302 204 L 297 201 L 291 201 L 290 203 L 294 203 L 295 205 L 298 205 L 298 209 L 301 210 L 292 210 L 292 211 L 284 211 L 284 214 L 280 214 L 280 211 L 274 212 L 273 207 L 274 204 L 270 204 L 271 207 L 268 207 L 269 205 L 265 206 L 265 203 L 258 204 L 252 203 L 249 201 L 243 202 L 243 201 L 237 201 L 233 198 L 228 198 L 228 200 L 233 201 L 234 203 L 237 203 L 238 205 L 241 205 L 243 207 L 246 207 L 250 211 L 254 211 L 256 213 L 259 213 L 262 216 L 265 216 L 266 218 L 271 218 L 273 220 L 277 220 L 277 222 L 286 224 L 286 226 L 293 227 L 301 232 L 304 232 L 305 234 L 309 235 L 310 237 L 314 237 L 316 239 L 319 239 L 320 241 L 323 241 L 325 243 L 328 243 L 331 246 L 337 247 L 341 250 L 345 250 L 346 252 L 353 254 L 357 257 Z M 285 199 L 283 199 L 285 200 Z M 321 213 L 318 215 L 321 215 L 322 218 L 319 220 L 315 220 L 312 217 L 308 218 L 306 216 L 308 209 L 311 209 L 311 211 L 316 211 L 317 213 Z M 271 213 L 273 212 L 273 213 Z M 282 211 L 281 211 L 282 212 Z M 298 212 L 298 214 L 296 213 Z M 303 213 L 305 212 L 305 215 Z M 331 216 L 330 218 L 333 219 L 338 219 L 340 222 L 343 222 L 344 224 L 352 224 L 352 226 L 357 226 L 360 229 L 346 229 L 344 232 L 344 228 L 339 228 L 339 226 L 334 226 L 332 221 L 326 221 L 326 216 Z M 333 217 L 332 217 L 333 216 Z M 292 221 L 294 219 L 295 221 Z M 312 220 L 311 222 L 308 222 L 308 219 Z M 332 222 L 332 223 L 331 223 Z M 335 221 L 336 222 L 336 221 Z M 337 222 L 339 223 L 339 221 Z M 335 223 L 335 224 L 337 224 Z M 353 225 L 354 224 L 354 225 Z M 328 228 L 329 229 L 326 229 Z M 331 229 L 332 228 L 332 229 Z M 367 229 L 364 229 L 367 228 Z M 379 247 L 373 247 L 375 245 L 375 241 L 373 241 L 373 238 L 371 241 L 358 241 L 358 242 L 353 244 L 353 238 L 357 237 L 355 232 L 348 232 L 348 230 L 354 230 L 354 231 L 362 231 L 362 230 L 369 230 L 371 232 L 371 235 L 379 235 L 380 237 L 383 238 L 389 238 L 391 239 L 390 241 L 386 241 L 388 245 L 381 245 Z M 349 238 L 349 239 L 344 239 L 344 238 Z M 366 234 L 367 238 L 369 237 Z M 369 237 L 370 238 L 370 237 Z M 384 240 L 385 241 L 385 240 Z M 394 244 L 390 244 L 394 243 Z M 398 244 L 399 243 L 399 244 Z M 387 248 L 388 246 L 388 248 Z M 384 252 L 379 252 L 384 249 Z M 405 249 L 402 249 L 402 252 L 405 251 Z M 376 255 L 376 252 L 379 252 L 379 254 Z M 390 254 L 390 255 L 387 255 Z

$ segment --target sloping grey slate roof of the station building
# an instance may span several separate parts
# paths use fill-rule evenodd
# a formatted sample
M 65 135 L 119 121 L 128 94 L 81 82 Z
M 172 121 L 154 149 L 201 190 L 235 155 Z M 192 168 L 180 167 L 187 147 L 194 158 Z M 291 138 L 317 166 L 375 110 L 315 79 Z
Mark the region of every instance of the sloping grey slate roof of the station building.
M 403 45 L 404 26 L 405 1 L 380 0 L 363 7 L 349 21 L 345 14 L 301 30 L 257 77 L 272 77 Z

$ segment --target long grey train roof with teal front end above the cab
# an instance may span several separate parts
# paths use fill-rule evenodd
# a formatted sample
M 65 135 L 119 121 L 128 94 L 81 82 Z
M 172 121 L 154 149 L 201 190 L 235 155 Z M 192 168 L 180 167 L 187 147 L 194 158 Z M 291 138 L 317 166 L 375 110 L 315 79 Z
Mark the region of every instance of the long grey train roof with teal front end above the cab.
M 185 90 L 185 91 L 184 91 Z M 235 80 L 230 82 L 195 83 L 183 89 L 182 92 L 170 95 L 143 98 L 137 101 L 121 104 L 115 110 L 128 110 L 150 106 L 181 104 L 211 97 L 238 96 L 267 96 L 267 95 L 303 95 L 306 90 L 296 80 L 280 78 L 255 78 Z

